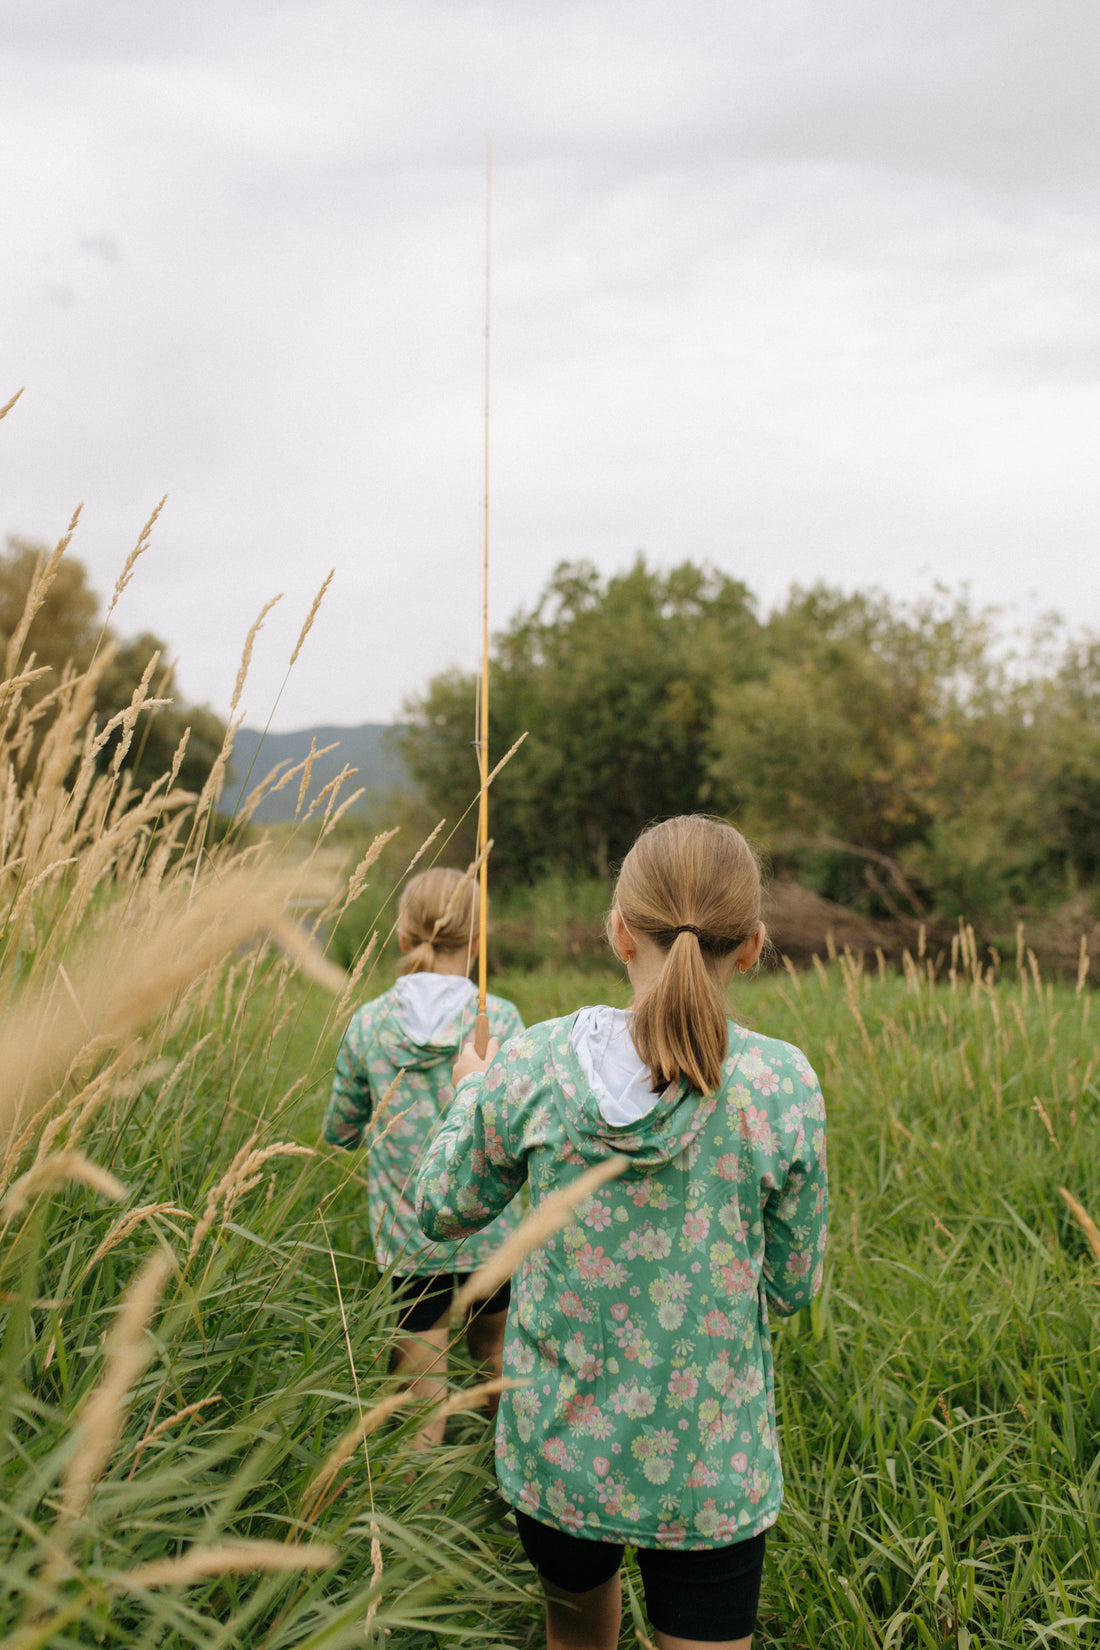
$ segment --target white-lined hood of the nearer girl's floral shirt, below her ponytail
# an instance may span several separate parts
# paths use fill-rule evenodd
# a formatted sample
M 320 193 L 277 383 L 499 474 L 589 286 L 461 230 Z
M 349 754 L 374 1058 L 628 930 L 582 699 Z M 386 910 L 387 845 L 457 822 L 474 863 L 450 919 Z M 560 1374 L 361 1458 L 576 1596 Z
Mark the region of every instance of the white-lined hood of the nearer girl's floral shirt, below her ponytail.
M 732 1074 L 745 1035 L 731 1025 L 722 1087 Z M 632 1172 L 645 1175 L 679 1157 L 704 1129 L 716 1094 L 696 1094 L 686 1079 L 653 1094 L 648 1066 L 630 1038 L 625 1008 L 581 1008 L 569 1041 L 554 1053 L 554 1077 L 572 1145 L 585 1157 L 623 1152 Z

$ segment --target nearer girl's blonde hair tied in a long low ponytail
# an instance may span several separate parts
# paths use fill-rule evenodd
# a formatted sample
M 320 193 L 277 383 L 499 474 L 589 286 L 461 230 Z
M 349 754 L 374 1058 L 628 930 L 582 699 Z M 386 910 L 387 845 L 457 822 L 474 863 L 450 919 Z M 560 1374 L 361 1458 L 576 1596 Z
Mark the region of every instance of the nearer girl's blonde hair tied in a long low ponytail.
M 643 830 L 622 863 L 615 909 L 665 952 L 635 1003 L 632 1036 L 660 1094 L 681 1072 L 712 1094 L 729 1046 L 717 962 L 760 924 L 760 865 L 732 825 L 684 813 Z

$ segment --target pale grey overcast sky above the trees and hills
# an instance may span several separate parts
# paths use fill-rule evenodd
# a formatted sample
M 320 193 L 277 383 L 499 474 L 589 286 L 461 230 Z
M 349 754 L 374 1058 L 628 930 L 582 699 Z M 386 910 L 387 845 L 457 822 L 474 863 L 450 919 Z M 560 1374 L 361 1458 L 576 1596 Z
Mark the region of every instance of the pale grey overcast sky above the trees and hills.
M 0 0 L 0 538 L 389 719 L 561 559 L 1100 630 L 1097 0 Z

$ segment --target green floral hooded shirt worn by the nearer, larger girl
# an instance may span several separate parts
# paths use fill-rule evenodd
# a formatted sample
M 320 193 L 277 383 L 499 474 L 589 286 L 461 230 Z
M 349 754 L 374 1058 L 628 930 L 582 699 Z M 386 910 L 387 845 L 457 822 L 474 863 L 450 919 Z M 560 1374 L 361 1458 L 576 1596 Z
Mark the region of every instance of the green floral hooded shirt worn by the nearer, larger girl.
M 434 1238 L 531 1208 L 609 1153 L 627 1172 L 513 1280 L 496 1472 L 505 1500 L 592 1539 L 712 1548 L 775 1521 L 782 1472 L 769 1307 L 821 1285 L 825 1104 L 800 1049 L 729 1023 L 722 1081 L 602 1117 L 576 1016 L 513 1038 L 455 1091 L 421 1160 Z

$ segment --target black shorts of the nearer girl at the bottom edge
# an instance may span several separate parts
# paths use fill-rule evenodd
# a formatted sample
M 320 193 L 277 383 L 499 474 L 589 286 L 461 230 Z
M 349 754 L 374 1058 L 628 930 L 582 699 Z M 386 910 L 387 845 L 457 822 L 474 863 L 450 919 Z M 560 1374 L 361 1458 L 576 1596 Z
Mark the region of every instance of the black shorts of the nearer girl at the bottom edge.
M 516 1508 L 516 1528 L 539 1576 L 561 1592 L 590 1592 L 610 1581 L 623 1548 L 585 1541 L 551 1525 L 539 1525 Z M 684 1553 L 679 1548 L 637 1548 L 645 1607 L 658 1632 L 671 1638 L 722 1643 L 747 1638 L 757 1624 L 764 1536 L 727 1548 Z

